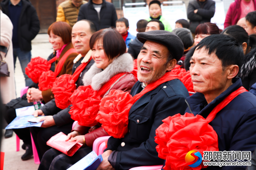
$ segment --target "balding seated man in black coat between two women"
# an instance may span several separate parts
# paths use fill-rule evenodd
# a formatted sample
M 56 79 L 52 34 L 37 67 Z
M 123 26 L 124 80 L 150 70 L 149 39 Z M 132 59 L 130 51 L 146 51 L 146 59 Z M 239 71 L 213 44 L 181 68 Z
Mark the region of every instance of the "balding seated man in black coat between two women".
M 94 32 L 96 32 L 96 27 L 91 21 L 88 20 L 79 21 L 73 26 L 72 43 L 80 55 L 78 55 L 74 60 L 72 74 L 75 73 L 76 68 L 79 67 L 81 63 L 86 63 L 91 58 L 92 51 L 89 47 L 89 40 Z M 75 82 L 76 88 L 83 85 L 82 78 L 93 64 L 94 60 L 91 60 L 82 70 L 78 80 Z M 44 153 L 51 148 L 46 144 L 46 142 L 50 140 L 52 136 L 58 134 L 59 132 L 63 132 L 64 134 L 70 133 L 74 122 L 69 114 L 71 106 L 72 105 L 69 105 L 69 107 L 66 109 L 60 109 L 57 107 L 55 99 L 53 99 L 34 112 L 34 116 L 36 117 L 37 115 L 45 115 L 45 117 L 42 118 L 44 123 L 40 128 L 30 128 L 33 140 L 37 147 L 37 153 L 40 161 Z

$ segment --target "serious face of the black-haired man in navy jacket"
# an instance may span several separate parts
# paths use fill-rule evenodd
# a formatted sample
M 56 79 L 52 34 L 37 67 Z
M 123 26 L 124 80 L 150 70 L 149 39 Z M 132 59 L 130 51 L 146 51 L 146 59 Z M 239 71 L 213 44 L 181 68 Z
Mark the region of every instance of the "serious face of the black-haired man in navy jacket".
M 222 62 L 217 55 L 208 55 L 205 48 L 195 50 L 189 68 L 194 91 L 207 94 L 221 91 L 227 84 L 227 71 L 223 70 Z

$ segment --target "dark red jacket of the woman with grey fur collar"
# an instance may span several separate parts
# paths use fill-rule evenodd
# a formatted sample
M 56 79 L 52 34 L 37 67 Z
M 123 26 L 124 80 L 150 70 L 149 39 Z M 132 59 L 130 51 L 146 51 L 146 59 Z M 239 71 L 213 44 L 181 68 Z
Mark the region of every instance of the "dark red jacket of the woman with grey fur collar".
M 128 73 L 123 78 L 121 78 L 112 88 L 111 90 L 121 90 L 121 91 L 128 91 L 131 92 L 131 88 L 137 82 L 137 79 L 134 77 L 133 74 Z M 80 134 L 85 134 L 85 143 L 89 147 L 93 147 L 94 140 L 102 136 L 109 136 L 106 131 L 99 125 L 95 127 L 85 127 L 78 125 L 76 123 L 75 127 L 72 131 L 78 131 Z M 88 133 L 90 132 L 90 133 Z

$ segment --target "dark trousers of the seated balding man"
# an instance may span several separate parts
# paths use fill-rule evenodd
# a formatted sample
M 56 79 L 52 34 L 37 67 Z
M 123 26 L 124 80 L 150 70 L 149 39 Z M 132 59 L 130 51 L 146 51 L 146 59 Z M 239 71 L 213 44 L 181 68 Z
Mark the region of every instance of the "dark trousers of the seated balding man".
M 46 144 L 50 138 L 60 132 L 64 134 L 69 134 L 72 130 L 72 123 L 66 124 L 62 127 L 52 126 L 49 128 L 38 128 L 38 127 L 30 127 L 30 131 L 37 147 L 37 153 L 40 161 L 46 151 L 51 149 L 50 146 Z

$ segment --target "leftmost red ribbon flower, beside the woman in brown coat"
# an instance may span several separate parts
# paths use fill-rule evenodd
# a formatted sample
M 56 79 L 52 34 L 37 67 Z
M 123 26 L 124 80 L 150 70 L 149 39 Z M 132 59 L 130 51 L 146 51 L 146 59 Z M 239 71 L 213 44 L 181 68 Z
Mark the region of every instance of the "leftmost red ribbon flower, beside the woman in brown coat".
M 41 57 L 32 58 L 25 68 L 25 73 L 34 82 L 38 83 L 38 80 L 43 72 L 50 70 L 50 64 L 47 60 Z

